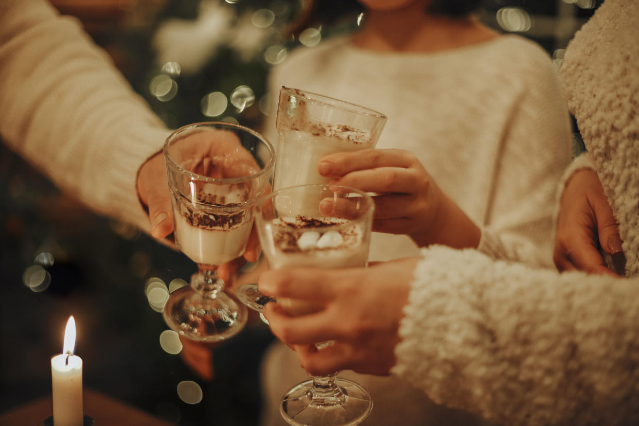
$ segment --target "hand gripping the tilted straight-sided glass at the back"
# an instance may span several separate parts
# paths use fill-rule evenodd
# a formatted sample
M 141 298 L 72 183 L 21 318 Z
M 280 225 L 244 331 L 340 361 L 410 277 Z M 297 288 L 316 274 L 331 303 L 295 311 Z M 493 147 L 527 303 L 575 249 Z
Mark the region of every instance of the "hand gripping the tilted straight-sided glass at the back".
M 376 193 L 373 231 L 407 234 L 420 247 L 479 244 L 479 227 L 442 192 L 409 151 L 362 149 L 330 154 L 319 160 L 318 172 L 332 178 L 332 185 Z

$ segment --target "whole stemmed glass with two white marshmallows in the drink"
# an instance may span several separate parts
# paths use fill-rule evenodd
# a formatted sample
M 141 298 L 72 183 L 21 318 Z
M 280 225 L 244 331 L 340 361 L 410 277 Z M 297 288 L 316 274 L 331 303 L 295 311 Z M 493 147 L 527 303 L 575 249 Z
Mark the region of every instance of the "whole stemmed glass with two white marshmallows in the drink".
M 373 211 L 371 197 L 353 188 L 293 186 L 263 197 L 256 204 L 255 223 L 270 268 L 354 268 L 367 264 Z M 293 316 L 318 310 L 307 301 L 277 303 Z M 330 342 L 318 347 L 325 344 Z M 371 396 L 359 384 L 336 375 L 312 377 L 293 386 L 281 401 L 284 420 L 322 426 L 364 420 L 373 407 Z

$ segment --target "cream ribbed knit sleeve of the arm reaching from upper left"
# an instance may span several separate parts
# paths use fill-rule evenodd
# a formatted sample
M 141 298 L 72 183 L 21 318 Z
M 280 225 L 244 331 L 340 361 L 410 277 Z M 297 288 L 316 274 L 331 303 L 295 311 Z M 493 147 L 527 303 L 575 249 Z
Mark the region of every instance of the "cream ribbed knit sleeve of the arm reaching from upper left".
M 167 128 L 76 19 L 3 0 L 0 20 L 4 143 L 95 211 L 148 230 L 135 179 Z

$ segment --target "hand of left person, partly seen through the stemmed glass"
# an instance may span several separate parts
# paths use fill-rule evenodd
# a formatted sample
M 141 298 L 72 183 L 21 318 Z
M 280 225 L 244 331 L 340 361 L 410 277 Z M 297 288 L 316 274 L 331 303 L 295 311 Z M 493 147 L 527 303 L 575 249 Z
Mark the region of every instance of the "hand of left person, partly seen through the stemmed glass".
M 212 138 L 212 135 L 219 137 Z M 191 133 L 188 138 L 189 143 L 182 144 L 182 153 L 191 160 L 182 166 L 192 172 L 212 178 L 235 178 L 246 176 L 257 167 L 252 155 L 242 148 L 239 139 L 231 132 Z M 148 209 L 151 236 L 176 248 L 172 241 L 174 229 L 171 192 L 162 152 L 142 164 L 136 185 L 140 201 Z M 243 256 L 220 266 L 218 275 L 225 281 L 230 280 L 246 261 L 256 262 L 259 252 L 257 232 L 252 229 Z

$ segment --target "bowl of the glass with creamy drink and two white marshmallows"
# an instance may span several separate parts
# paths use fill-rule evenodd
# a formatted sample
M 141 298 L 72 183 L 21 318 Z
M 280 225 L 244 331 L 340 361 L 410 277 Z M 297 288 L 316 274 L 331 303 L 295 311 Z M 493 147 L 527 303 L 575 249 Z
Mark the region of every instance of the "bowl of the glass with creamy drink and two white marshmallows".
M 300 199 L 318 202 L 302 206 Z M 326 201 L 332 205 L 328 211 L 320 207 Z M 268 266 L 366 266 L 373 209 L 369 195 L 345 186 L 291 186 L 263 197 L 255 223 Z M 316 310 L 307 301 L 277 301 L 295 315 Z

